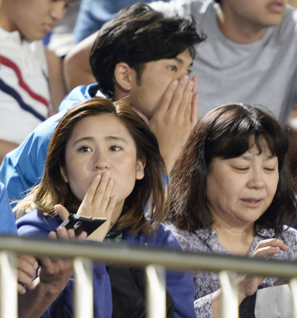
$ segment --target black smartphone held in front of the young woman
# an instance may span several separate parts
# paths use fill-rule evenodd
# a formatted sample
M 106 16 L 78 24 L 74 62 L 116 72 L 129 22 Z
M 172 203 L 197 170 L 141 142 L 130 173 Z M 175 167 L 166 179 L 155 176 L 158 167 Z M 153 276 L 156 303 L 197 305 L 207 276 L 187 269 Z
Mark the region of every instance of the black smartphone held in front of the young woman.
M 64 226 L 67 230 L 73 229 L 75 235 L 79 235 L 81 232 L 85 231 L 89 236 L 105 221 L 106 218 L 91 218 L 84 215 L 70 214 L 70 216 L 64 220 L 57 229 Z

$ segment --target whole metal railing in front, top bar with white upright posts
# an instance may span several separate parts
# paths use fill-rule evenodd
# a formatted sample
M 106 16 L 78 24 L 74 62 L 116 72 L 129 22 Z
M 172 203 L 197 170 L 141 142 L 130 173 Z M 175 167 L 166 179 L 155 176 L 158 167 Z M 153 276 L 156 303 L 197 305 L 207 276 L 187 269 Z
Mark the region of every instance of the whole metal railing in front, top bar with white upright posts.
M 223 300 L 222 317 L 238 317 L 234 277 L 237 274 L 287 279 L 292 289 L 294 318 L 297 318 L 297 264 L 292 261 L 232 255 L 142 248 L 121 243 L 98 243 L 0 236 L 0 315 L 17 318 L 15 255 L 31 254 L 73 258 L 75 270 L 75 318 L 93 317 L 92 262 L 146 267 L 149 318 L 165 317 L 165 269 L 219 272 Z M 8 289 L 9 286 L 9 289 Z

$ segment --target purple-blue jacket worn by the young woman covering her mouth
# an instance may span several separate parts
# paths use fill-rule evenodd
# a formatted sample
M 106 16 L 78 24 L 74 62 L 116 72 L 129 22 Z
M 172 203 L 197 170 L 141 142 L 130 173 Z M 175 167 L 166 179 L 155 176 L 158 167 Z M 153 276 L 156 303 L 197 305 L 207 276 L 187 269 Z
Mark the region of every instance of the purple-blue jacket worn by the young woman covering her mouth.
M 48 233 L 57 228 L 62 222 L 60 217 L 44 217 L 37 210 L 24 215 L 17 220 L 19 235 L 33 235 L 47 237 Z M 157 232 L 149 237 L 140 233 L 136 236 L 125 234 L 123 239 L 128 244 L 147 245 L 149 247 L 180 248 L 172 232 L 163 224 Z M 111 286 L 109 275 L 104 264 L 94 264 L 94 318 L 108 318 L 112 314 Z M 71 278 L 56 301 L 43 314 L 42 318 L 71 318 L 72 317 L 72 289 Z M 174 301 L 174 318 L 195 318 L 194 285 L 192 276 L 188 273 L 167 271 L 166 288 Z

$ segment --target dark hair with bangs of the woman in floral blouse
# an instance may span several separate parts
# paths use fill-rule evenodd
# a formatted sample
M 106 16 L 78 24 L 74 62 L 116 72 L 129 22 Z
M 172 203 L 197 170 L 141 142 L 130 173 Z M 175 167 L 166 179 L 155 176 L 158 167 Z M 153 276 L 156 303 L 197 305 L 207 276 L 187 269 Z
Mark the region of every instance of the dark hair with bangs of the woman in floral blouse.
M 173 167 L 170 222 L 190 231 L 211 228 L 206 179 L 213 159 L 241 156 L 253 145 L 261 152 L 263 141 L 278 158 L 279 182 L 272 203 L 255 225 L 273 228 L 276 235 L 283 225 L 293 225 L 296 189 L 287 163 L 286 133 L 271 115 L 246 104 L 220 106 L 198 121 Z

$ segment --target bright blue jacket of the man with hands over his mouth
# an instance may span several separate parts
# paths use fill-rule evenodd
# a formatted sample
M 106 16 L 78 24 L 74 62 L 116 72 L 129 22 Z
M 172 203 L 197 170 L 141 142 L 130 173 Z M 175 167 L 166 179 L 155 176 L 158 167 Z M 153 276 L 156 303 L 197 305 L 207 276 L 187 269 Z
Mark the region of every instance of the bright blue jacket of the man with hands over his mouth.
M 4 183 L 10 200 L 21 199 L 39 183 L 51 136 L 65 112 L 82 100 L 91 98 L 89 89 L 97 84 L 78 86 L 62 101 L 59 113 L 40 123 L 17 149 L 10 151 L 0 167 L 0 181 Z

